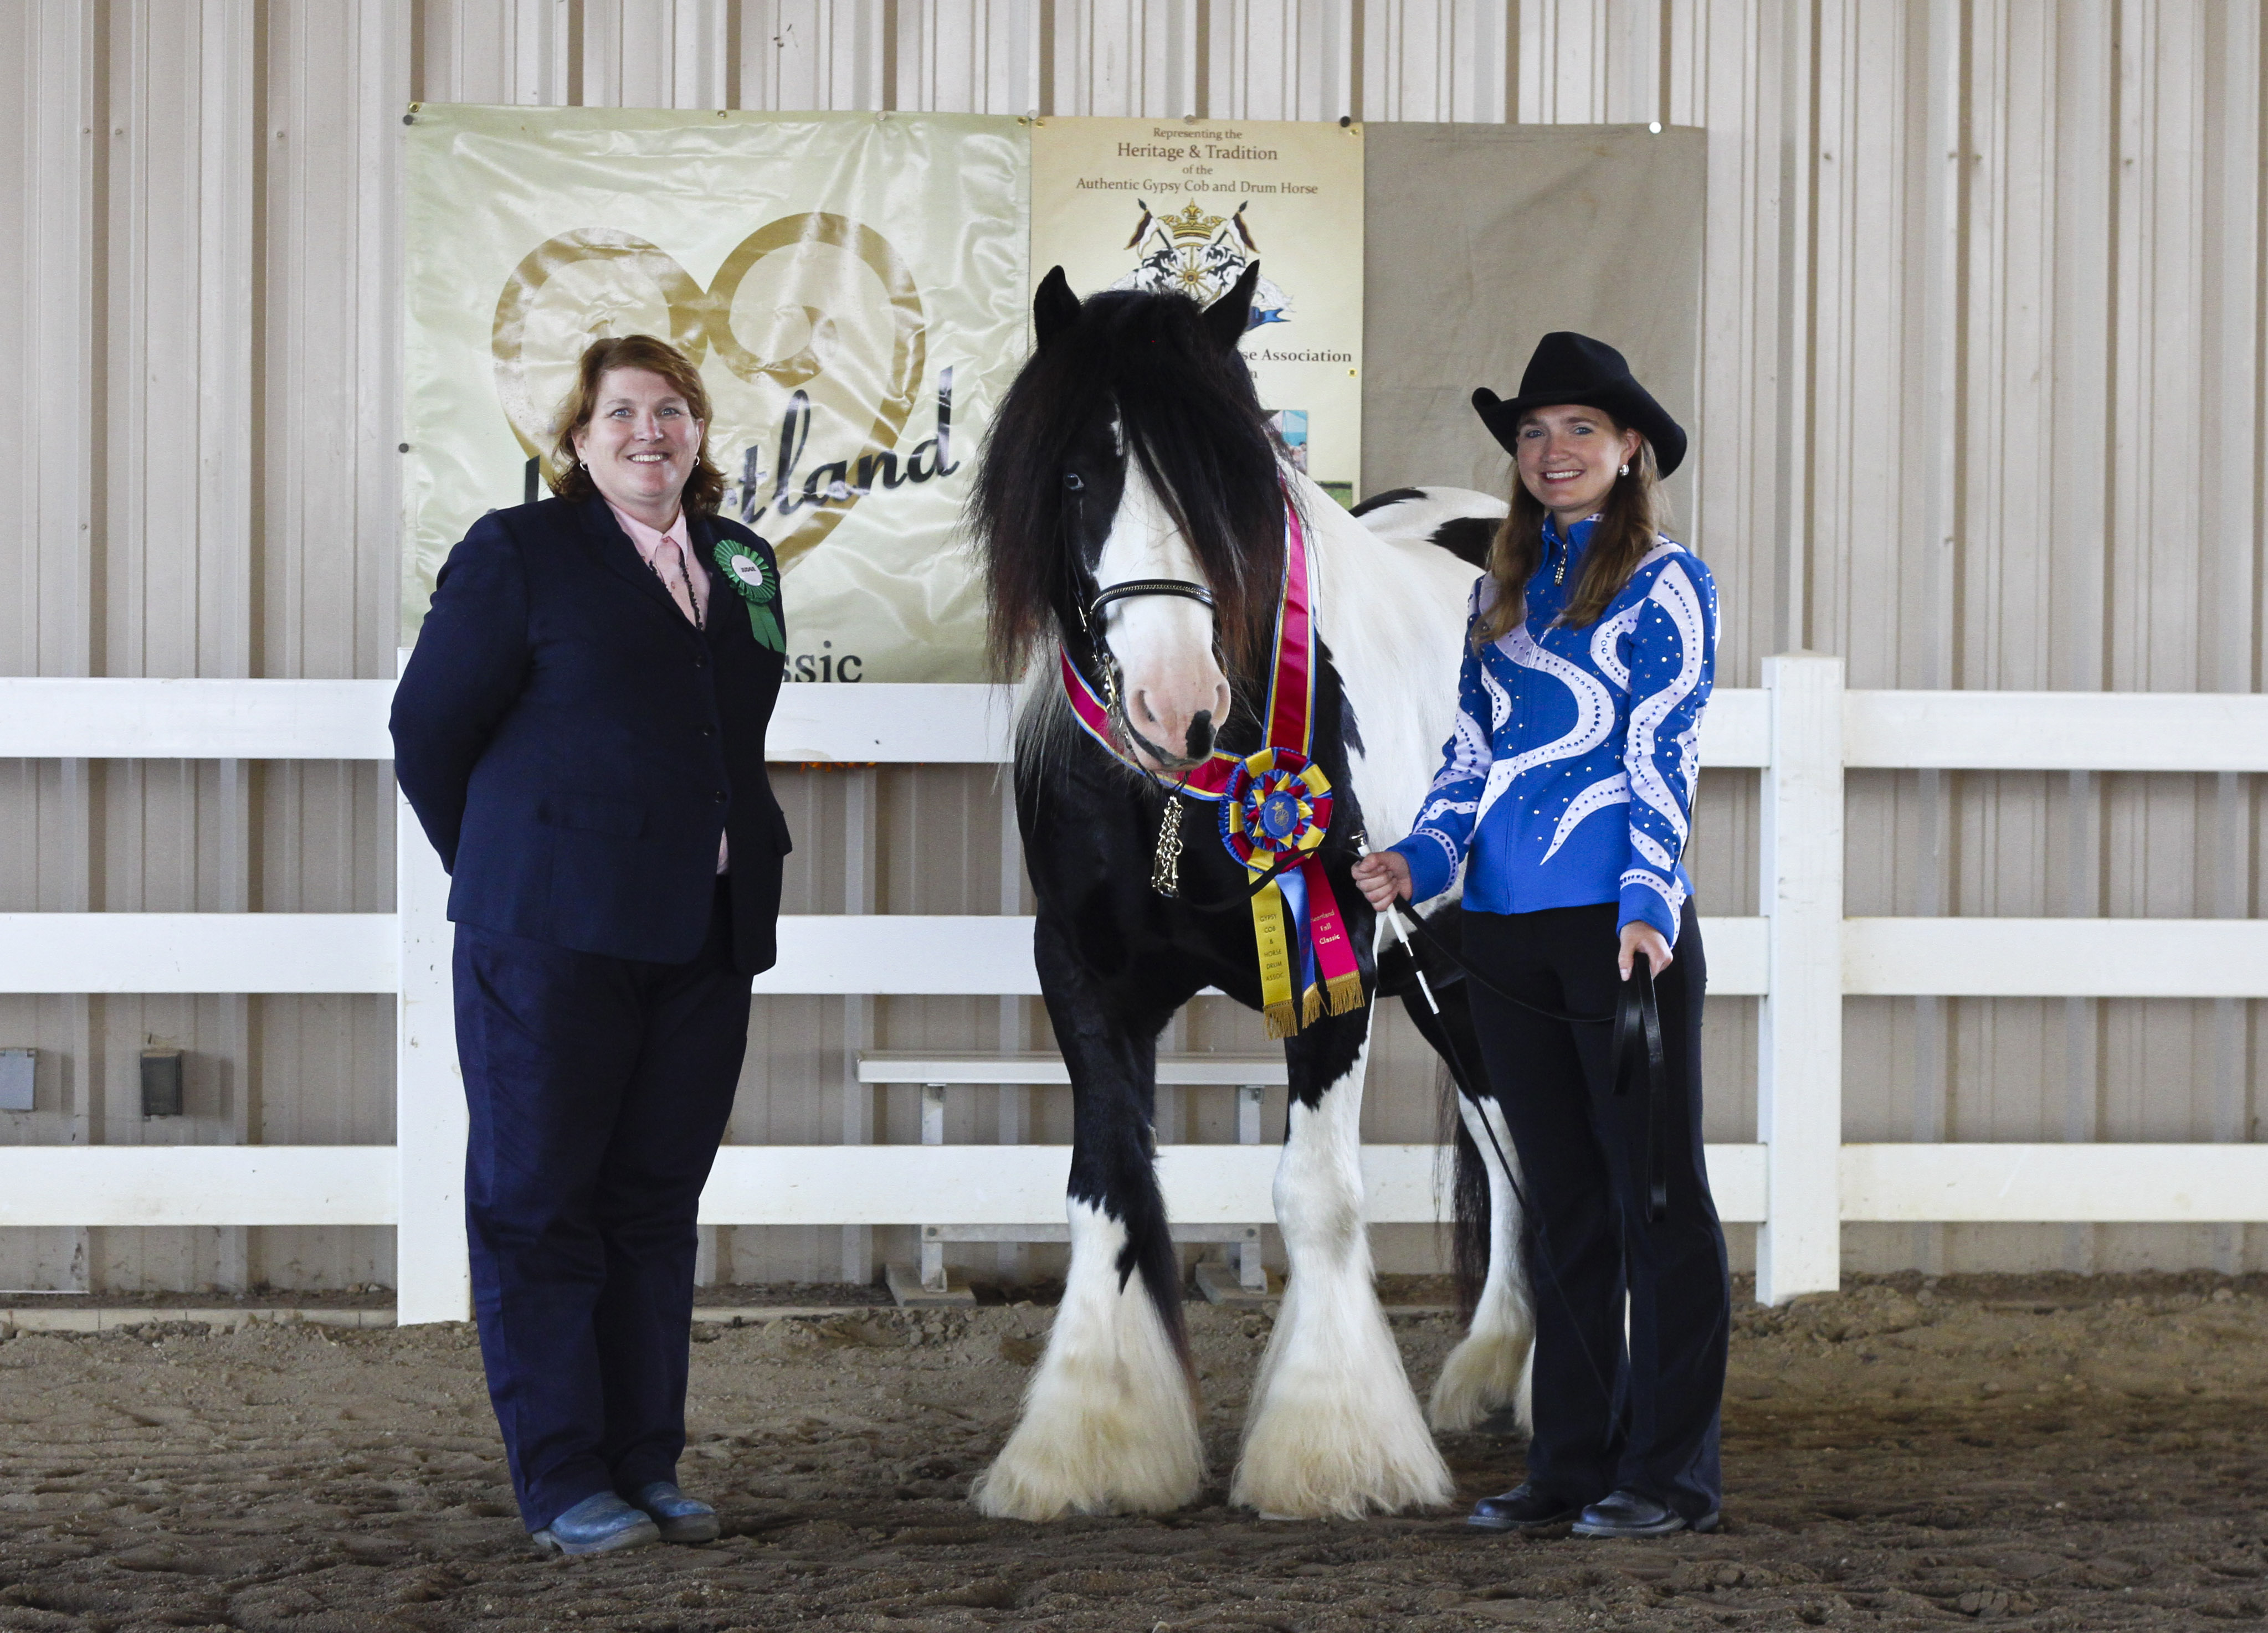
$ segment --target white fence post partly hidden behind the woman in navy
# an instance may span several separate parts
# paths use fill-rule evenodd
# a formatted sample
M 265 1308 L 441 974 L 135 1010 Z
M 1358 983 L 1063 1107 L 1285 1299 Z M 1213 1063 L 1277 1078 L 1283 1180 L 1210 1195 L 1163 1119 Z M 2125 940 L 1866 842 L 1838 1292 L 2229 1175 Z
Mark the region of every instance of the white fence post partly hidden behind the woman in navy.
M 406 658 L 408 653 L 404 653 Z M 465 1084 L 449 987 L 449 875 L 395 792 L 395 1320 L 472 1320 L 465 1252 Z

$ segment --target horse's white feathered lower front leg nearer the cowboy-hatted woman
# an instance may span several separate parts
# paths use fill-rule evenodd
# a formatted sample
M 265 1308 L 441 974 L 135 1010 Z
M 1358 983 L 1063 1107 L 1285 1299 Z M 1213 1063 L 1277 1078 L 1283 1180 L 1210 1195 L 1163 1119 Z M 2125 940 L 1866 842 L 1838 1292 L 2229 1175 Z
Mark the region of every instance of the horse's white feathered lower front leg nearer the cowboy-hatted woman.
M 1356 1520 L 1449 1501 L 1402 1352 L 1379 1309 L 1363 1227 L 1363 1061 L 1315 1111 L 1290 1109 L 1275 1204 L 1290 1277 L 1261 1359 L 1229 1501 Z

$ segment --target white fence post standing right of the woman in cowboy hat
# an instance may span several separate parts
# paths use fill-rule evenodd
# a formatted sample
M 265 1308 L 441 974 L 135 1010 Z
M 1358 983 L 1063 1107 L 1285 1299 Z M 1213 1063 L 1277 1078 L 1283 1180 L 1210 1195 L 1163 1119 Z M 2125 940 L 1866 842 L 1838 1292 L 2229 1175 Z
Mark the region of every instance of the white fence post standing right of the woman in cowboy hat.
M 1765 1227 L 1755 1297 L 1842 1284 L 1844 671 L 1839 658 L 1765 660 L 1762 894 L 1767 996 L 1758 1030 Z

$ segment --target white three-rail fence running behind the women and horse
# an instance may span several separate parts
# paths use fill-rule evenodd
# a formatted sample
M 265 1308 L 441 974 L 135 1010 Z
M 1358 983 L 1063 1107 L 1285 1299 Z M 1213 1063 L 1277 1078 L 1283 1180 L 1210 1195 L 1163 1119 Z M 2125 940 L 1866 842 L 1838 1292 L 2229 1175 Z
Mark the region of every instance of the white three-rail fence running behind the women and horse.
M 0 758 L 390 760 L 388 680 L 0 678 Z M 993 687 L 794 685 L 787 762 L 998 762 Z M 1846 919 L 1846 767 L 2268 771 L 2268 696 L 1846 692 L 1842 662 L 1771 658 L 1721 689 L 1701 760 L 1765 776 L 1762 903 L 1712 919 L 1710 987 L 1762 996 L 1758 1141 L 1710 1145 L 1758 1297 L 1833 1288 L 1844 1220 L 2257 1222 L 2268 1145 L 1844 1145 L 1844 996 L 2268 998 L 2268 923 Z M 465 1105 L 447 880 L 399 812 L 392 914 L 0 914 L 9 993 L 397 993 L 397 1145 L 9 1145 L 0 1225 L 392 1225 L 399 1318 L 463 1320 Z M 1036 993 L 1016 916 L 789 916 L 760 993 Z M 1014 1225 L 1061 1218 L 1050 1145 L 728 1145 L 708 1225 Z M 1166 1145 L 1191 1225 L 1270 1216 L 1275 1152 Z M 1436 1216 L 1431 1145 L 1372 1145 L 1374 1222 Z

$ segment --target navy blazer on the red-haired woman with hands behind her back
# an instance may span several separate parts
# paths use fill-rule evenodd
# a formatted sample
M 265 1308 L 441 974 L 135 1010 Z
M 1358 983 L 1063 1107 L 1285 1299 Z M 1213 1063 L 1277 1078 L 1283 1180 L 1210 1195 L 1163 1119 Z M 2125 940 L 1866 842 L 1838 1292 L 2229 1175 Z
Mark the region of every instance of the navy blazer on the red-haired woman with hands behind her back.
M 449 919 L 683 964 L 723 832 L 733 962 L 771 968 L 789 841 L 764 728 L 785 658 L 755 642 L 712 547 L 728 535 L 778 562 L 723 517 L 687 517 L 687 535 L 708 628 L 603 499 L 490 510 L 449 551 L 392 714 L 395 778 L 449 869 Z

